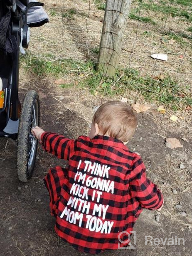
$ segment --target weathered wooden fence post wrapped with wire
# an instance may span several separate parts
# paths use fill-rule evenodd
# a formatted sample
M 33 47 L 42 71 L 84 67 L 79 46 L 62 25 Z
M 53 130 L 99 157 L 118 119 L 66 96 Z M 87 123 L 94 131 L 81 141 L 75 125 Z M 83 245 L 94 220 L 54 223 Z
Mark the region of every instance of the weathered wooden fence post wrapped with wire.
M 131 0 L 106 0 L 97 71 L 113 76 L 119 63 Z

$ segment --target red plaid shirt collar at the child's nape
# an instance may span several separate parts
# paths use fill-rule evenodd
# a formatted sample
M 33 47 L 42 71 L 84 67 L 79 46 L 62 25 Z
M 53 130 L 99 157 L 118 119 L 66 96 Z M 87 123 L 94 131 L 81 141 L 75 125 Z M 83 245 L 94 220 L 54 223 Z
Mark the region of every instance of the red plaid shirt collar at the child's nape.
M 121 140 L 104 135 L 96 135 L 91 141 L 94 144 L 104 144 L 107 146 L 128 150 L 128 147 L 124 145 Z

